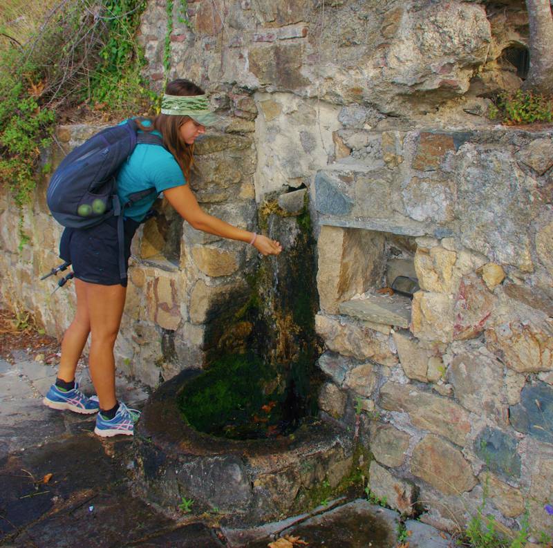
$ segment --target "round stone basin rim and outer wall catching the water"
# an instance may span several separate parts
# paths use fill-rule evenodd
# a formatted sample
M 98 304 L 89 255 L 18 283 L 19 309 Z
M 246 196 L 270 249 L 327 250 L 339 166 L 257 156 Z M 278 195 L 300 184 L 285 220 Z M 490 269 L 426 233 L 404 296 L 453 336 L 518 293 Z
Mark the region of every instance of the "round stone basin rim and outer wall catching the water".
M 149 502 L 178 512 L 185 498 L 193 513 L 216 513 L 225 525 L 259 525 L 320 504 L 351 475 L 351 433 L 323 420 L 266 440 L 196 431 L 178 397 L 200 373 L 182 371 L 162 384 L 135 426 L 138 482 Z

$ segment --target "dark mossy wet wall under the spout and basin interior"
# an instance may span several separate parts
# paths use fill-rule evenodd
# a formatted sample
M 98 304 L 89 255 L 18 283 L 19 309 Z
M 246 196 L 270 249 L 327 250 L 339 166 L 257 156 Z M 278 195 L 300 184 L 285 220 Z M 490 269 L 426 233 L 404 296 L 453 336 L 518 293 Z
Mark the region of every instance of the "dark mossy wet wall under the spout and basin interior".
M 271 200 L 260 208 L 260 225 L 272 215 L 289 217 Z M 223 308 L 207 327 L 206 371 L 179 402 L 198 431 L 234 439 L 287 435 L 303 417 L 317 415 L 321 372 L 314 364 L 321 341 L 315 333 L 315 242 L 307 204 L 294 220 L 300 223 L 294 245 L 273 261 L 260 261 L 246 277 L 249 294 Z M 283 229 L 278 223 L 271 218 L 277 232 Z M 238 323 L 250 327 L 239 341 L 232 336 Z

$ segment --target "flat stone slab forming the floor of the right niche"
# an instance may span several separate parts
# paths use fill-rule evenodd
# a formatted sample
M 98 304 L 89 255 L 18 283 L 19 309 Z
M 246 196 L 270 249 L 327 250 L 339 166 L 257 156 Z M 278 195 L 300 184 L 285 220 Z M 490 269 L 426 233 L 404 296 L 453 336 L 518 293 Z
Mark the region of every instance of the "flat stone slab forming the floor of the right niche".
M 370 295 L 366 299 L 353 299 L 340 303 L 340 314 L 366 321 L 409 328 L 411 300 L 402 295 Z

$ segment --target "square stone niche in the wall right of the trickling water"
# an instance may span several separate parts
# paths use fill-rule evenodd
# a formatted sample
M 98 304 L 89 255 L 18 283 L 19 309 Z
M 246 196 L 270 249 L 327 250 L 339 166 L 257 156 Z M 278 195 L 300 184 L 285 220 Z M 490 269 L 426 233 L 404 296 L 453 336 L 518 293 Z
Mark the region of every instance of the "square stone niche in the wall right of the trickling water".
M 409 328 L 411 299 L 390 288 L 400 276 L 416 280 L 415 238 L 323 226 L 318 247 L 317 285 L 323 312 L 381 324 L 388 330 L 390 325 Z

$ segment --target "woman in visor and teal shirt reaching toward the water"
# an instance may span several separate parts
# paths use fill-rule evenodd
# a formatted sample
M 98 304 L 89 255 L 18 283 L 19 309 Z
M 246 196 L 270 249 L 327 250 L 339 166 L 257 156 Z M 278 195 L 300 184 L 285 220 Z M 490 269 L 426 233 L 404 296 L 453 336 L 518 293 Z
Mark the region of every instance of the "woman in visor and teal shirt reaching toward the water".
M 158 193 L 192 227 L 256 247 L 263 255 L 278 255 L 279 242 L 248 232 L 203 211 L 188 182 L 194 164 L 194 141 L 213 125 L 217 117 L 209 111 L 205 92 L 185 79 L 169 82 L 162 98 L 161 113 L 153 120 L 136 119 L 144 135 L 162 137 L 164 147 L 136 144 L 117 175 L 117 194 L 126 203 L 129 194 L 155 188 L 155 192 L 124 209 L 124 272 L 131 255 L 131 240 L 147 216 Z M 140 133 L 138 134 L 140 137 Z M 75 319 L 64 334 L 62 357 L 55 384 L 44 404 L 76 413 L 97 413 L 94 432 L 102 437 L 133 435 L 140 412 L 115 398 L 115 360 L 113 346 L 123 314 L 126 278 L 120 276 L 117 219 L 110 217 L 92 228 L 66 228 L 59 245 L 59 256 L 72 263 L 77 293 Z M 126 274 L 125 274 L 126 275 Z M 97 396 L 86 397 L 75 382 L 75 369 L 91 334 L 89 370 Z

